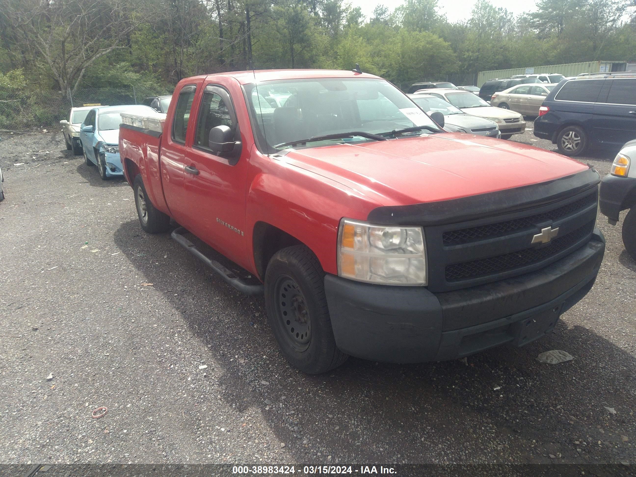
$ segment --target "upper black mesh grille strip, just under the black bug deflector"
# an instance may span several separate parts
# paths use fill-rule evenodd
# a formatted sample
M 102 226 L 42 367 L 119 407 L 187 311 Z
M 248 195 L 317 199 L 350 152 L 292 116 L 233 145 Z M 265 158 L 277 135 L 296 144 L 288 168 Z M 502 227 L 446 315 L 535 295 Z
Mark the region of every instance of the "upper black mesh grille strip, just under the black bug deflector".
M 588 205 L 595 203 L 596 201 L 596 193 L 593 193 L 588 195 L 587 197 L 575 200 L 570 204 L 558 207 L 558 209 L 553 209 L 551 211 L 536 214 L 534 216 L 509 220 L 497 224 L 481 225 L 478 227 L 444 232 L 442 240 L 444 242 L 444 245 L 459 245 L 465 244 L 466 242 L 472 242 L 473 240 L 485 239 L 487 237 L 498 237 L 507 233 L 523 230 L 524 228 L 534 227 L 537 223 L 545 222 L 548 220 L 554 221 L 569 216 L 579 211 L 580 209 L 584 209 Z

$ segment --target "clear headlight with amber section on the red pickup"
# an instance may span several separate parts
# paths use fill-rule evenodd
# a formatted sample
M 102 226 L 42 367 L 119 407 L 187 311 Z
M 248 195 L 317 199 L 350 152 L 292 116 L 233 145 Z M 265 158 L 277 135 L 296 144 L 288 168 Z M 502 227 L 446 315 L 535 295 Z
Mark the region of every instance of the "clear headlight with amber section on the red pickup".
M 422 228 L 342 219 L 338 228 L 338 276 L 384 285 L 426 285 Z

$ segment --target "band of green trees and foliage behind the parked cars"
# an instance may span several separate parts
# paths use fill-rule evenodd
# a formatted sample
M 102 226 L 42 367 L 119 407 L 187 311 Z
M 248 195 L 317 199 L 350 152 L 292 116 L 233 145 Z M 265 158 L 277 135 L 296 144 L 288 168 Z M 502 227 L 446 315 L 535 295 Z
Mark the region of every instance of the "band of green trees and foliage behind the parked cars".
M 535 13 L 519 17 L 478 0 L 455 23 L 438 0 L 377 4 L 370 18 L 347 0 L 0 0 L 0 127 L 46 122 L 60 91 L 122 104 L 169 93 L 186 76 L 251 64 L 358 63 L 406 87 L 607 59 L 636 60 L 633 0 L 539 0 Z

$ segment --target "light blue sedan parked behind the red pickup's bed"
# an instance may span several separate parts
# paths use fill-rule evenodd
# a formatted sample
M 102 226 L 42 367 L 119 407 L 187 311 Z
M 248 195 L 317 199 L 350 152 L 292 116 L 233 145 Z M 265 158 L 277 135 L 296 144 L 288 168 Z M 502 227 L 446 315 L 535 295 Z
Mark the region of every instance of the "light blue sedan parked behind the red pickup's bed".
M 93 107 L 79 128 L 86 165 L 97 164 L 99 175 L 106 181 L 109 177 L 123 176 L 119 156 L 119 125 L 121 113 L 156 116 L 156 111 L 142 104 L 125 106 Z

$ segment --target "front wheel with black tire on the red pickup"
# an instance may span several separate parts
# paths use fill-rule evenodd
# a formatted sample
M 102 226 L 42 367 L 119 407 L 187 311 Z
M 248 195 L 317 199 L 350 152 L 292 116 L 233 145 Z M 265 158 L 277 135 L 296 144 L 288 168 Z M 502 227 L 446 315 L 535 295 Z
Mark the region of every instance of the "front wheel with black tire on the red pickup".
M 347 361 L 349 355 L 338 349 L 333 337 L 324 271 L 305 245 L 279 250 L 270 259 L 265 305 L 272 333 L 292 366 L 314 375 Z

